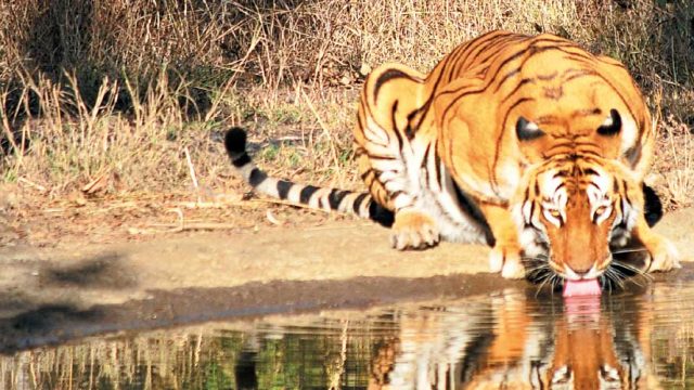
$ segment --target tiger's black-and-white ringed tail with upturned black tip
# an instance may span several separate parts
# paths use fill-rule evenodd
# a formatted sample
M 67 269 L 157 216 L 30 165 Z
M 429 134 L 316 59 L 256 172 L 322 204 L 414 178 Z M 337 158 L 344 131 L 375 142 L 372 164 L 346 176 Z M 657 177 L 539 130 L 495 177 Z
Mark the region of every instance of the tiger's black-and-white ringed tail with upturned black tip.
M 393 212 L 374 202 L 369 193 L 318 187 L 269 177 L 250 159 L 246 151 L 246 131 L 241 128 L 227 131 L 224 147 L 231 164 L 261 194 L 313 209 L 369 218 L 387 226 L 393 224 Z

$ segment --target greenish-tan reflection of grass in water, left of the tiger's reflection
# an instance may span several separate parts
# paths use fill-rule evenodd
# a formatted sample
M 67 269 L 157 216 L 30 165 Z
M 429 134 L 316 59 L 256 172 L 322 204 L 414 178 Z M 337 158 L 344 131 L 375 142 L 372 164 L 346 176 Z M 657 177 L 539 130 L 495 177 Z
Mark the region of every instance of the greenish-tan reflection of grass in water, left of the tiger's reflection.
M 214 328 L 87 338 L 0 355 L 0 385 L 3 389 L 232 389 L 248 379 L 235 376 L 237 365 L 247 364 L 253 351 L 258 388 L 319 388 L 332 379 L 331 374 L 343 374 L 339 364 L 346 358 L 335 359 L 343 350 L 349 351 L 356 366 L 368 367 L 378 346 L 396 332 L 381 326 L 364 334 L 369 324 L 351 322 L 359 332 L 343 339 L 339 330 L 329 328 L 337 324 L 323 321 L 322 334 L 311 339 L 272 329 L 260 333 L 257 324 L 233 322 L 216 323 Z M 363 387 L 369 370 L 352 372 L 348 380 Z

